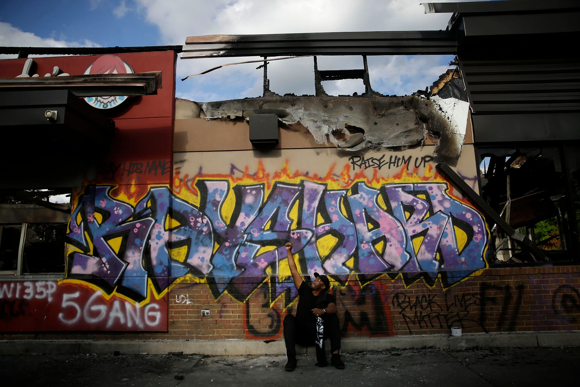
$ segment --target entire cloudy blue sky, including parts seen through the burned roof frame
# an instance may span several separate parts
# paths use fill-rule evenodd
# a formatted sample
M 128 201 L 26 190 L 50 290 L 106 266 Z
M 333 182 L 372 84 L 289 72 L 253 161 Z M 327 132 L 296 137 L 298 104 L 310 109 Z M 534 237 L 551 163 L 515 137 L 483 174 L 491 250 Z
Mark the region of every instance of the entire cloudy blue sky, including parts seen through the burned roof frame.
M 425 0 L 27 0 L 0 3 L 1 46 L 110 47 L 182 45 L 210 34 L 444 30 L 451 14 L 425 14 Z M 444 2 L 445 0 L 438 0 Z M 462 0 L 465 1 L 465 0 Z M 15 56 L 0 55 L 0 58 Z M 262 95 L 256 63 L 227 66 L 181 81 L 218 64 L 259 58 L 177 59 L 176 96 L 198 102 Z M 432 85 L 452 56 L 369 56 L 372 87 L 404 95 Z M 318 69 L 360 69 L 361 56 L 325 56 Z M 6 76 L 0 74 L 0 77 Z M 314 94 L 313 59 L 268 66 L 278 94 Z M 328 94 L 364 92 L 362 80 L 327 81 Z

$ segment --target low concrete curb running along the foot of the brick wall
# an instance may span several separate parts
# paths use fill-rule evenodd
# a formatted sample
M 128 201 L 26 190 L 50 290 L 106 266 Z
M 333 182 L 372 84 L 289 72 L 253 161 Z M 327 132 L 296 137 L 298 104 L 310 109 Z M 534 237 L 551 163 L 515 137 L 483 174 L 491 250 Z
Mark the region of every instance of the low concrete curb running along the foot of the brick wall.
M 494 347 L 580 347 L 580 331 L 502 332 L 488 334 L 409 335 L 342 339 L 342 352 L 390 349 L 467 349 Z M 329 347 L 329 345 L 327 345 Z M 298 347 L 299 353 L 314 353 L 314 347 Z M 300 351 L 301 350 L 301 351 Z M 262 355 L 284 354 L 284 340 L 5 340 L 1 355 L 16 354 L 185 354 Z

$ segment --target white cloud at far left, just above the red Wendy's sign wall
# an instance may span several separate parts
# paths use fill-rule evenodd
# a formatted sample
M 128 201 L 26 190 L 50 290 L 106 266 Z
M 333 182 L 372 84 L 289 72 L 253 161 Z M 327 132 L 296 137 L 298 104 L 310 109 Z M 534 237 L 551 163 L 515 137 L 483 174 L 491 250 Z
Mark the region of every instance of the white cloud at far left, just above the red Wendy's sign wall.
M 35 34 L 24 32 L 12 24 L 0 22 L 0 46 L 6 47 L 99 47 L 93 41 L 85 39 L 81 42 L 67 42 L 55 38 L 41 38 Z M 0 58 L 14 58 L 15 55 L 0 55 Z

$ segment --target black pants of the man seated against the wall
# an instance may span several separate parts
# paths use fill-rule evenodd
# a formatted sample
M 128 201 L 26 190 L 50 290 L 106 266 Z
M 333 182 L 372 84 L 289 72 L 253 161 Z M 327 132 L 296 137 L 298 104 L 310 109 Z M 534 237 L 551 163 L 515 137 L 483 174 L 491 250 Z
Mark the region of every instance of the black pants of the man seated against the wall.
M 324 339 L 330 338 L 331 353 L 340 349 L 340 321 L 336 314 L 322 316 L 324 324 Z M 287 314 L 284 317 L 284 343 L 286 344 L 286 354 L 288 359 L 296 357 L 296 344 L 308 347 L 316 345 L 316 323 L 311 320 L 309 324 L 299 324 L 296 317 Z M 316 346 L 316 359 L 320 363 L 326 359 L 324 343 L 322 348 Z

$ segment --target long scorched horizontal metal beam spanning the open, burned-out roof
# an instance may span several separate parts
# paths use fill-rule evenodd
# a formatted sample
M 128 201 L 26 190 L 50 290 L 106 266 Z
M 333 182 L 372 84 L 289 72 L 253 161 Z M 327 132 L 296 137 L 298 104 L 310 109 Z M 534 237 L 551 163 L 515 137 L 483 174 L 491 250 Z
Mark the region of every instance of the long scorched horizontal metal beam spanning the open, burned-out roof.
M 188 37 L 182 59 L 208 56 L 455 54 L 449 31 L 375 31 Z

